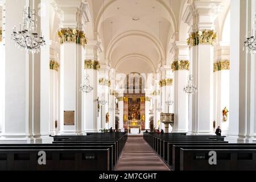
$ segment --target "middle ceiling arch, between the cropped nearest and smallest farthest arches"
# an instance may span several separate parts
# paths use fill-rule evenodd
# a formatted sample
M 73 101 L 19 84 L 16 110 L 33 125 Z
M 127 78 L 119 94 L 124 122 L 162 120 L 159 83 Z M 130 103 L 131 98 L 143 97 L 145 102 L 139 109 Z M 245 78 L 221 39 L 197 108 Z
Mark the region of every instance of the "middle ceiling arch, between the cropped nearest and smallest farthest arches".
M 122 39 L 125 39 L 129 36 L 136 36 L 136 35 L 137 36 L 142 36 L 142 37 L 147 38 L 148 40 L 150 40 L 155 45 L 155 47 L 157 48 L 156 50 L 158 51 L 158 54 L 160 56 L 160 60 L 164 59 L 164 48 L 162 46 L 162 43 L 160 43 L 159 40 L 157 40 L 151 34 L 148 34 L 147 32 L 143 32 L 143 31 L 138 31 L 138 30 L 130 30 L 130 31 L 123 32 L 122 34 L 119 34 L 114 39 L 112 39 L 111 42 L 109 43 L 108 48 L 106 49 L 106 59 L 111 60 L 111 55 L 113 53 L 115 45 L 118 42 L 120 42 Z

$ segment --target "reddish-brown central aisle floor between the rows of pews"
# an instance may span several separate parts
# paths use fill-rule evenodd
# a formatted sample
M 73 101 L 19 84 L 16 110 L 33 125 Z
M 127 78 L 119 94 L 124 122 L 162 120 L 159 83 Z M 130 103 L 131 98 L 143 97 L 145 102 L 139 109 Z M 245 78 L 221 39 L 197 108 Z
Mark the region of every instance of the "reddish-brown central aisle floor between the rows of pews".
M 115 171 L 170 171 L 143 137 L 128 137 Z

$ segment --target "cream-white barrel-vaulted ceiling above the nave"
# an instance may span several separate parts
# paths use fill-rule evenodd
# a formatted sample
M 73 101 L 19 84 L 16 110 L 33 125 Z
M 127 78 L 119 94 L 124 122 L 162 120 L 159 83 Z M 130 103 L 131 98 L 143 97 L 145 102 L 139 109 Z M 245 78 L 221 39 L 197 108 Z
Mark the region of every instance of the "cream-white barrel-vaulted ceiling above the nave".
M 92 1 L 95 30 L 113 68 L 126 74 L 156 71 L 166 58 L 170 36 L 177 30 L 175 16 L 179 16 L 183 1 L 172 1 Z

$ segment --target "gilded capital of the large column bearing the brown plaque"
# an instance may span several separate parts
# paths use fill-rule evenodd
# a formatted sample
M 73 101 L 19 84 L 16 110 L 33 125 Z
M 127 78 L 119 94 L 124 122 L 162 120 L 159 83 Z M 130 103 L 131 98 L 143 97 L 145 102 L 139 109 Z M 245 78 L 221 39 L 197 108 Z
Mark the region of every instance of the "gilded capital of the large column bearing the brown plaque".
M 64 42 L 73 42 L 81 44 L 81 46 L 84 47 L 87 43 L 84 31 L 78 30 L 77 28 L 61 28 L 58 31 L 58 36 L 60 44 L 63 44 Z

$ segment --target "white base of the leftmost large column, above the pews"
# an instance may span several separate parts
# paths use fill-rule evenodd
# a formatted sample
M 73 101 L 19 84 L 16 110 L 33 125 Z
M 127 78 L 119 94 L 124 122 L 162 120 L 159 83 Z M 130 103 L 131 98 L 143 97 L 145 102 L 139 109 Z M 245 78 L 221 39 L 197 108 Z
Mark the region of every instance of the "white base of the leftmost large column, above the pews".
M 52 143 L 53 138 L 48 135 L 32 136 L 26 134 L 2 134 L 0 143 Z

